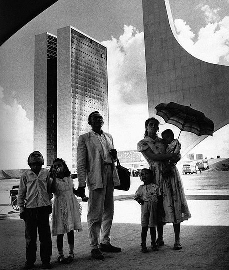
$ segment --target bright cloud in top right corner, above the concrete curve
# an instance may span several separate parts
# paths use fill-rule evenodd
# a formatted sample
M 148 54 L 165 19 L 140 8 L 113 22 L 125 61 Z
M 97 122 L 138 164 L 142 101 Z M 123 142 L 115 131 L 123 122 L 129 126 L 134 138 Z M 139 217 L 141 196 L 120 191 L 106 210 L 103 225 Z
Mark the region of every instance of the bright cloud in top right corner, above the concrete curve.
M 219 9 L 207 5 L 200 5 L 199 8 L 204 12 L 206 26 L 196 35 L 184 20 L 174 21 L 181 45 L 203 61 L 217 64 L 223 58 L 229 64 L 229 16 L 220 20 Z

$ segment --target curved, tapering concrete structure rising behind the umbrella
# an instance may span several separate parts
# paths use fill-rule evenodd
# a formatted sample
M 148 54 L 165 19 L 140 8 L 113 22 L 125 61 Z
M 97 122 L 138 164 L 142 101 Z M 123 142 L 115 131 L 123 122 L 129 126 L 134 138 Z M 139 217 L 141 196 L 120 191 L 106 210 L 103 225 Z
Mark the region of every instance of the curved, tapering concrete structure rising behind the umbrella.
M 197 59 L 179 44 L 169 0 L 142 5 L 149 116 L 155 116 L 156 105 L 172 101 L 202 111 L 214 122 L 214 132 L 228 124 L 229 66 Z M 182 155 L 207 137 L 185 133 Z

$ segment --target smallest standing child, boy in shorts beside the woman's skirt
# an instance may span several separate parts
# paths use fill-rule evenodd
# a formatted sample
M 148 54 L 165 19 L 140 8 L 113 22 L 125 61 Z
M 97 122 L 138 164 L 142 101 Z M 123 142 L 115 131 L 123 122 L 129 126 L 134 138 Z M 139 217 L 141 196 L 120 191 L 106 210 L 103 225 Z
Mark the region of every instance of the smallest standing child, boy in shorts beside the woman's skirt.
M 134 195 L 134 200 L 136 200 L 141 205 L 141 252 L 148 252 L 146 247 L 146 237 L 148 228 L 150 228 L 151 236 L 151 249 L 153 251 L 158 251 L 158 245 L 156 244 L 156 229 L 155 225 L 157 223 L 157 212 L 158 212 L 158 202 L 159 196 L 161 195 L 158 185 L 154 184 L 153 172 L 149 169 L 142 169 L 140 173 L 141 181 L 144 184 L 140 185 L 138 190 Z

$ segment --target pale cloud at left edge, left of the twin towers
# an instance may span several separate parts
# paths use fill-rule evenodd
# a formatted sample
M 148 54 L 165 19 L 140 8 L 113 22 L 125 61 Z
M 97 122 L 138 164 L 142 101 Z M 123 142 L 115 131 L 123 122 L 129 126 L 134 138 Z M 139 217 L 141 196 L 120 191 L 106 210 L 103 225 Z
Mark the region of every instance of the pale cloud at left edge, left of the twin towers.
M 33 121 L 16 99 L 5 104 L 3 91 L 0 86 L 0 169 L 27 168 L 33 151 Z

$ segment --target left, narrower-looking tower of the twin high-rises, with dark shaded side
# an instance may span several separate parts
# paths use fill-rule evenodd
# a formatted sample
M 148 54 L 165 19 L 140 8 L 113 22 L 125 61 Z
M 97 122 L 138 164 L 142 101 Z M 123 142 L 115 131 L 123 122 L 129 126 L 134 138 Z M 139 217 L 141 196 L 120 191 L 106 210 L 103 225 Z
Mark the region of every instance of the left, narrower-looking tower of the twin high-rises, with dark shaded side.
M 57 37 L 35 36 L 34 150 L 50 166 L 57 154 Z

